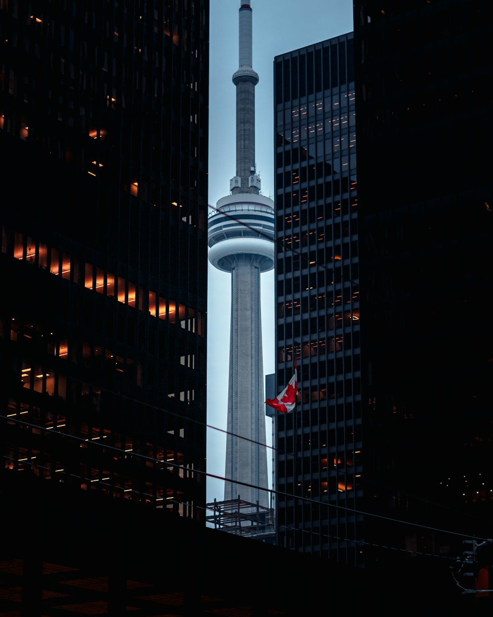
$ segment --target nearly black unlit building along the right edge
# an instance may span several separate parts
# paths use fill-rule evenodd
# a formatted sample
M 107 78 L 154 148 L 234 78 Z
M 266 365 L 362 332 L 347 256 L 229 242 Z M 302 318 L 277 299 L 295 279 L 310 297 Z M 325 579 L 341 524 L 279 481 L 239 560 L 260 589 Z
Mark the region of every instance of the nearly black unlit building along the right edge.
M 412 523 L 367 561 L 454 557 L 492 531 L 491 12 L 354 6 L 365 509 Z

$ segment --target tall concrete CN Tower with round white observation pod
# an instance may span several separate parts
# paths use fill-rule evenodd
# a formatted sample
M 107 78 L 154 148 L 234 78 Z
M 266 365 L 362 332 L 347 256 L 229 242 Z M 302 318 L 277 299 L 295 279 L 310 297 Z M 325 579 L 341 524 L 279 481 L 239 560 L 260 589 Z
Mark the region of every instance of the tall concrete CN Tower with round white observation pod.
M 208 219 L 209 260 L 231 273 L 229 397 L 224 500 L 268 507 L 260 275 L 274 268 L 274 202 L 260 194 L 255 165 L 255 86 L 251 6 L 239 10 L 236 175 Z M 236 484 L 242 482 L 243 484 Z M 249 486 L 244 486 L 244 485 Z M 260 487 L 260 488 L 259 488 Z

